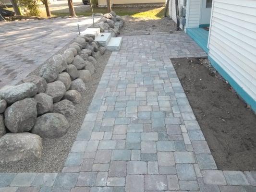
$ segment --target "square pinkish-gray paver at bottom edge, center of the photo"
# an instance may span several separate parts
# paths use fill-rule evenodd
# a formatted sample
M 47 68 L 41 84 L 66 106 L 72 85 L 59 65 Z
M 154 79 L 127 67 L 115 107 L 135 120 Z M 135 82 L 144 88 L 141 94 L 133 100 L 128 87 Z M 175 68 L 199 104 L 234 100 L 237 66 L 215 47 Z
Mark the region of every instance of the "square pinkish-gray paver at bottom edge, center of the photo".
M 144 176 L 143 175 L 127 175 L 126 192 L 144 192 Z

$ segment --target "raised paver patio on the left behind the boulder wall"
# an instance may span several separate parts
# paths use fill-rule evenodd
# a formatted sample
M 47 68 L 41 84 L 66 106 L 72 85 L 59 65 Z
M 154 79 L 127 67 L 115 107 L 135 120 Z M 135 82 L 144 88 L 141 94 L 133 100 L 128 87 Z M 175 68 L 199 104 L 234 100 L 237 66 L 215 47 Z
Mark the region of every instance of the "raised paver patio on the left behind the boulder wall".
M 96 21 L 98 18 L 96 18 Z M 0 88 L 17 84 L 91 25 L 91 17 L 0 23 Z

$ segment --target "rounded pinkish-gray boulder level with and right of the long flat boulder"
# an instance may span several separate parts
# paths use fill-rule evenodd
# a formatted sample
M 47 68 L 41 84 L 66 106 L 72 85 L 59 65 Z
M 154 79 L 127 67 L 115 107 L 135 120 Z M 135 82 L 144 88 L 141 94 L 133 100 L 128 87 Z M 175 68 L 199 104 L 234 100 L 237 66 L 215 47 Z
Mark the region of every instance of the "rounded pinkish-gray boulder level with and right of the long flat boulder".
M 66 92 L 66 87 L 61 81 L 55 81 L 47 84 L 46 94 L 52 96 L 53 103 L 61 100 Z

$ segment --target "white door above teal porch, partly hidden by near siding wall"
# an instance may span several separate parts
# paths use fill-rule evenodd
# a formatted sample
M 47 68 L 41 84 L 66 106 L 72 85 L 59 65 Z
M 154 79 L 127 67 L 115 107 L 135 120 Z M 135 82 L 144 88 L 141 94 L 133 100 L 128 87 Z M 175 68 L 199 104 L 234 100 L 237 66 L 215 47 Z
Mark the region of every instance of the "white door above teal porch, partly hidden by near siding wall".
M 200 24 L 210 24 L 212 0 L 201 0 Z

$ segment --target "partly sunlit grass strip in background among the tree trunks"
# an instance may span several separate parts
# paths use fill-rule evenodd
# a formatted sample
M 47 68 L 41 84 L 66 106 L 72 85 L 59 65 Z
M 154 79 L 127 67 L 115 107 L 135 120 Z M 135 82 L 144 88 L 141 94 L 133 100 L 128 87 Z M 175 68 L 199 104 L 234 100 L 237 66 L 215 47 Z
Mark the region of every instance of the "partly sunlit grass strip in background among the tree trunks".
M 164 7 L 160 8 L 113 8 L 114 12 L 116 12 L 117 15 L 123 16 L 123 15 L 130 15 L 132 17 L 143 17 L 143 18 L 150 18 L 150 19 L 161 19 L 164 16 Z M 95 13 L 107 13 L 107 8 L 94 8 Z M 42 12 L 43 13 L 43 12 Z M 61 12 L 51 12 L 54 16 L 66 16 L 68 13 L 61 13 Z M 85 15 L 85 16 L 91 16 L 92 12 L 76 12 L 76 15 Z M 42 15 L 43 16 L 43 15 Z

